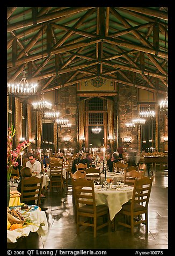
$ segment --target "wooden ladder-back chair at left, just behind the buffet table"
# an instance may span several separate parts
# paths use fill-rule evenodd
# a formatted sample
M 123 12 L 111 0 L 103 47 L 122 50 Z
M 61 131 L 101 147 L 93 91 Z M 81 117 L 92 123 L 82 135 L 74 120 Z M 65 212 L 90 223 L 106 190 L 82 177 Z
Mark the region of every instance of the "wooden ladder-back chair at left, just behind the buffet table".
M 30 201 L 37 202 L 35 204 L 40 205 L 40 197 L 42 190 L 43 176 L 41 178 L 31 176 L 28 179 L 22 179 L 21 181 L 21 203 L 30 203 Z

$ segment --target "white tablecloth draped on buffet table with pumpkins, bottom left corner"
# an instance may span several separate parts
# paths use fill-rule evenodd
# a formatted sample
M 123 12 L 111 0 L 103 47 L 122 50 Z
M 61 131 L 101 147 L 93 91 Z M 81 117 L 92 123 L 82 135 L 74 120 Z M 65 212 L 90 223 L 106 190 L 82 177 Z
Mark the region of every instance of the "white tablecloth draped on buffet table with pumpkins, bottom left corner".
M 13 231 L 7 231 L 7 242 L 16 243 L 17 239 L 24 236 L 27 237 L 30 232 L 37 232 L 42 241 L 45 242 L 48 233 L 48 223 L 45 211 L 39 209 L 31 212 L 27 212 L 24 216 L 28 216 L 35 225 L 26 225 L 23 229 L 16 229 Z

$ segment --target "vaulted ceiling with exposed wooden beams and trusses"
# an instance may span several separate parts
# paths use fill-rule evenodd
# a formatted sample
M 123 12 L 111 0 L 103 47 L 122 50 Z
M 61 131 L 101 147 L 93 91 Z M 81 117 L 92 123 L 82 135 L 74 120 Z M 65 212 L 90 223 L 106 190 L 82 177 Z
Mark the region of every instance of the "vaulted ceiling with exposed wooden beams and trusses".
M 39 91 L 97 76 L 165 93 L 167 7 L 9 7 L 8 82 Z

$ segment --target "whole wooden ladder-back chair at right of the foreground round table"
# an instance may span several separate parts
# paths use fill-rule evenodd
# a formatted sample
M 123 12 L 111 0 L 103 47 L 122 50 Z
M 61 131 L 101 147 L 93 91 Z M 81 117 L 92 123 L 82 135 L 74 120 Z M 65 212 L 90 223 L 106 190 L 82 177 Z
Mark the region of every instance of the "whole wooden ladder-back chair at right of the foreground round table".
M 120 221 L 118 224 L 129 227 L 132 234 L 134 234 L 134 226 L 141 223 L 145 224 L 145 233 L 148 233 L 148 203 L 153 178 L 153 176 L 151 178 L 145 176 L 140 180 L 135 180 L 132 200 L 122 205 L 120 214 L 129 216 L 130 223 Z

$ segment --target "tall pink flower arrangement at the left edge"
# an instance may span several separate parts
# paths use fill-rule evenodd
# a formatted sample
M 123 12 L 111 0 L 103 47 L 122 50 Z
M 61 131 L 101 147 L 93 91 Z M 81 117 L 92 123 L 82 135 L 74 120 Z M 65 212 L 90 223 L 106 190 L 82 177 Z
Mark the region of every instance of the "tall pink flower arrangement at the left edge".
M 18 166 L 17 159 L 20 156 L 21 152 L 25 150 L 26 147 L 31 145 L 31 142 L 28 140 L 24 140 L 22 143 L 19 143 L 16 147 L 16 150 L 12 150 L 12 141 L 13 137 L 16 133 L 16 130 L 13 127 L 8 128 L 8 136 L 7 136 L 7 179 L 10 180 L 11 173 L 13 167 Z

